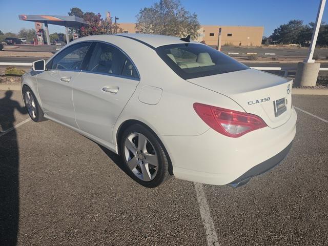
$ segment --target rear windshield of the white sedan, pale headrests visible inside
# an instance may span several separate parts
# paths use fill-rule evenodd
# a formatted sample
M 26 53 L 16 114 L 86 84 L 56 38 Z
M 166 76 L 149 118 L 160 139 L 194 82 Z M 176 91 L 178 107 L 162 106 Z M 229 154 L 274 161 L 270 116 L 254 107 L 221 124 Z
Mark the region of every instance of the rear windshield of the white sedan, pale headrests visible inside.
M 230 56 L 202 44 L 165 45 L 158 47 L 156 52 L 183 79 L 249 69 Z

